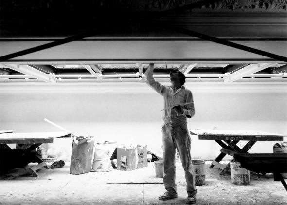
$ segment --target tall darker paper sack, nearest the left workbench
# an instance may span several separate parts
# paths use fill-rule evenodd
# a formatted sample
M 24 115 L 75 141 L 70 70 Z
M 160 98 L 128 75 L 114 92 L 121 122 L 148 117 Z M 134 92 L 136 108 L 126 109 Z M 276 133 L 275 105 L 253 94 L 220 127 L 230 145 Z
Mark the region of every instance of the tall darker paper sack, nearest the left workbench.
M 77 137 L 73 141 L 70 174 L 84 174 L 91 171 L 93 149 L 93 137 Z

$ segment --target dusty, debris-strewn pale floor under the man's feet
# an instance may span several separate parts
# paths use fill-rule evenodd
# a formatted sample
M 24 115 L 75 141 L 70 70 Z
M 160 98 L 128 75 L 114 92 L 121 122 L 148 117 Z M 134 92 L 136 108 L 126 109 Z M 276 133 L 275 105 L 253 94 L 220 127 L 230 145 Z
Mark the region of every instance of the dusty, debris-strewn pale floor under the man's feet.
M 49 166 L 51 163 L 47 163 Z M 197 205 L 287 205 L 287 192 L 272 174 L 251 176 L 248 186 L 233 185 L 230 176 L 206 162 L 206 185 L 197 186 Z M 69 164 L 59 169 L 41 169 L 38 177 L 0 180 L 0 205 L 184 205 L 183 169 L 177 163 L 178 198 L 159 201 L 162 178 L 155 177 L 153 163 L 134 171 L 69 174 Z M 287 180 L 286 180 L 287 181 Z M 138 184 L 120 184 L 138 183 Z M 141 184 L 145 183 L 145 184 Z M 147 184 L 155 183 L 155 184 Z

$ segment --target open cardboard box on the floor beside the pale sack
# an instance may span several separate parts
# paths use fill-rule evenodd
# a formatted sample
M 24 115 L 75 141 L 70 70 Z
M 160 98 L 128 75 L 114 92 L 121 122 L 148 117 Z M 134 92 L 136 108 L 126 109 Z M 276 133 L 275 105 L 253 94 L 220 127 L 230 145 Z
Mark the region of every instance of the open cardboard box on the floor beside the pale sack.
M 147 167 L 147 149 L 138 145 L 137 148 L 117 147 L 117 169 L 130 171 Z

